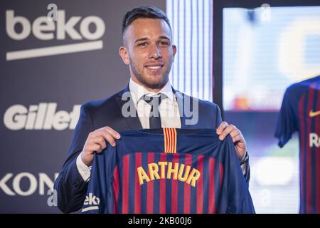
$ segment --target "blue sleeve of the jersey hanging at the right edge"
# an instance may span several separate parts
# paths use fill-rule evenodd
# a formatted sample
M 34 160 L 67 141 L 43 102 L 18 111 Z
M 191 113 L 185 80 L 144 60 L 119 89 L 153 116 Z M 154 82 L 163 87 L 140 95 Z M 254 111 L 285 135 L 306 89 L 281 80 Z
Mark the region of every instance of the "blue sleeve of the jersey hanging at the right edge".
M 290 100 L 290 95 L 292 95 L 292 88 L 287 88 L 284 93 L 284 98 L 282 100 L 281 109 L 279 111 L 277 126 L 274 136 L 279 139 L 279 147 L 283 147 L 292 137 L 297 129 L 297 121 L 294 115 L 294 106 Z

